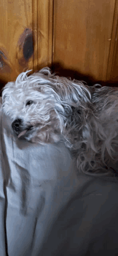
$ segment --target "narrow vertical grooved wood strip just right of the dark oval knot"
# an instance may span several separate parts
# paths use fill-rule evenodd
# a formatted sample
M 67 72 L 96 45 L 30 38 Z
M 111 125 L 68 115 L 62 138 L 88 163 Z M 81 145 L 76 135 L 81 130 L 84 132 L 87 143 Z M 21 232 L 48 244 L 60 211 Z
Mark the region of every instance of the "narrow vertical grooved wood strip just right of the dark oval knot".
M 53 53 L 53 0 L 33 1 L 34 69 L 50 66 Z

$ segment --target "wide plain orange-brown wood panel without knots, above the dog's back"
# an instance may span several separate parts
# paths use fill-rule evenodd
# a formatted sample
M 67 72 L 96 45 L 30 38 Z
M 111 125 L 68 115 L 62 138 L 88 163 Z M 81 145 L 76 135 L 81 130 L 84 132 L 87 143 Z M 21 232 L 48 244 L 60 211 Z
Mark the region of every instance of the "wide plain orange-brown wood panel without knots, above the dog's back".
M 106 80 L 115 0 L 54 1 L 53 63 Z

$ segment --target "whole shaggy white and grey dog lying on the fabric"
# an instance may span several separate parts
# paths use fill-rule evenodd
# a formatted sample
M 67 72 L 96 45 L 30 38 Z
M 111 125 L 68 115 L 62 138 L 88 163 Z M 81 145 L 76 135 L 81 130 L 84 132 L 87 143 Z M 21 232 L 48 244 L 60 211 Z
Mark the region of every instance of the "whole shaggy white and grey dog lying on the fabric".
M 6 84 L 2 93 L 2 109 L 18 138 L 40 144 L 63 138 L 80 170 L 109 173 L 109 156 L 118 144 L 117 88 L 85 86 L 55 76 L 49 68 L 28 72 Z

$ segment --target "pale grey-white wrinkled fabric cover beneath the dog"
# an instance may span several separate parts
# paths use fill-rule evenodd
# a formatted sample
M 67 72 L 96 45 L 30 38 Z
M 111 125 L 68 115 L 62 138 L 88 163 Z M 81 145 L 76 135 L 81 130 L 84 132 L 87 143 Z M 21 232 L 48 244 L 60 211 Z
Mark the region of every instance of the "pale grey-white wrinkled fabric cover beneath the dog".
M 75 169 L 62 143 L 18 140 L 2 113 L 1 256 L 118 255 L 117 182 Z

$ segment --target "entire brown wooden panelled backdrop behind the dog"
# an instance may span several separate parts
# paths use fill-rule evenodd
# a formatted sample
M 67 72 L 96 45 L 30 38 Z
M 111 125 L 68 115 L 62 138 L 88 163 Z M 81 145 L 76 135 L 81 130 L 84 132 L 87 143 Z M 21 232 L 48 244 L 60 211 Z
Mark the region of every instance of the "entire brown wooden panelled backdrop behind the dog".
M 50 66 L 85 81 L 117 81 L 117 5 L 117 0 L 0 0 L 0 80 Z

